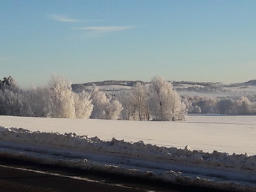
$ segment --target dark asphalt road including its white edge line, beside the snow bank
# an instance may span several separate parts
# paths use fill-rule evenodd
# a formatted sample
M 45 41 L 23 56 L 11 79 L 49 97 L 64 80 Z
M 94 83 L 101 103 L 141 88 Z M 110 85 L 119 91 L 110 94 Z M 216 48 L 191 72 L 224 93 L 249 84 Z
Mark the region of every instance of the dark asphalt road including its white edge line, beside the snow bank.
M 170 185 L 141 179 L 114 176 L 107 173 L 89 173 L 35 164 L 13 159 L 0 159 L 0 192 L 17 191 L 214 191 Z

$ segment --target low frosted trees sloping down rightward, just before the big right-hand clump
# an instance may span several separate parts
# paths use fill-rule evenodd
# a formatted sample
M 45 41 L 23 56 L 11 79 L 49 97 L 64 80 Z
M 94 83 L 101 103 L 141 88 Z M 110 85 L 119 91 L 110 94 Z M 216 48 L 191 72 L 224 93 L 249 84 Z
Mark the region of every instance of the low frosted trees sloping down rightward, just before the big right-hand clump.
M 94 105 L 91 118 L 118 119 L 123 109 L 118 100 L 112 100 L 111 97 L 107 97 L 96 86 L 92 90 L 91 98 Z

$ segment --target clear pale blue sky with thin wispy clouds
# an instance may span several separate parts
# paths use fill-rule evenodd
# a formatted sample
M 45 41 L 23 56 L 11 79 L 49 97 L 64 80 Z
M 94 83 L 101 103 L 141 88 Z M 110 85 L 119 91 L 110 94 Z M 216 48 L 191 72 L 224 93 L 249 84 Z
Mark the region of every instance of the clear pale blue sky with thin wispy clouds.
M 256 79 L 256 1 L 0 0 L 0 78 Z

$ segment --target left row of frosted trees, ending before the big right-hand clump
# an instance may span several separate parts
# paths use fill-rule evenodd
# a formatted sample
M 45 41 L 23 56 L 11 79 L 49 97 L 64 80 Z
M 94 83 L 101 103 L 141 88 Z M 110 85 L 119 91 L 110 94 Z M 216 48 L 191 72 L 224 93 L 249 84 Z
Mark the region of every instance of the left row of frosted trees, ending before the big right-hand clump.
M 52 77 L 48 86 L 25 91 L 12 82 L 1 86 L 0 115 L 117 119 L 122 109 L 121 103 L 97 89 L 72 92 L 71 82 L 62 77 Z

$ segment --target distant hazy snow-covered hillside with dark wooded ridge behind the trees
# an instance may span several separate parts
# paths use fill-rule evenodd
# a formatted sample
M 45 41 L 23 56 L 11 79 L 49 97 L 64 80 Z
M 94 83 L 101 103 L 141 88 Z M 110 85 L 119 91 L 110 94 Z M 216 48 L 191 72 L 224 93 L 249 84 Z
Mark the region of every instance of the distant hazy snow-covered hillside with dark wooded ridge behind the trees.
M 101 91 L 109 94 L 117 94 L 120 91 L 129 90 L 138 81 L 103 81 L 94 83 L 74 84 L 72 88 L 74 92 L 81 92 L 85 89 L 92 89 L 95 84 Z M 142 82 L 143 85 L 148 82 Z M 245 83 L 200 83 L 173 81 L 174 89 L 179 92 L 179 95 L 201 96 L 201 97 L 239 97 L 246 95 L 256 95 L 256 80 L 250 80 Z

